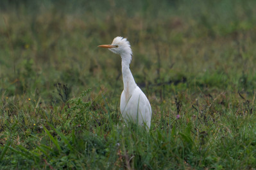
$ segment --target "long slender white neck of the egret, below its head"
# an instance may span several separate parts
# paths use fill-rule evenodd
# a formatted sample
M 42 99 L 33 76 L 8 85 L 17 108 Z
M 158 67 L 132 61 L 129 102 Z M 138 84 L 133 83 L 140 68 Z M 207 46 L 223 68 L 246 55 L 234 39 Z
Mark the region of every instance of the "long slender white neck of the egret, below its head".
M 130 55 L 130 54 L 128 54 Z M 122 73 L 124 82 L 124 91 L 127 95 L 132 95 L 133 90 L 137 87 L 132 72 L 130 70 L 130 62 L 127 62 L 126 57 L 132 58 L 132 56 L 121 56 L 122 57 Z

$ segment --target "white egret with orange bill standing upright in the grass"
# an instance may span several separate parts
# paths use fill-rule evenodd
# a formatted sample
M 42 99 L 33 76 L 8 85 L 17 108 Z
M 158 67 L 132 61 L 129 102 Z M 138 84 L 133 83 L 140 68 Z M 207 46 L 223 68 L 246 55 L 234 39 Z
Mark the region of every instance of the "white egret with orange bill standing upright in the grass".
M 99 45 L 98 47 L 107 48 L 122 58 L 122 73 L 124 90 L 121 95 L 120 110 L 126 123 L 133 122 L 137 125 L 146 125 L 150 128 L 151 106 L 148 98 L 135 83 L 132 72 L 129 68 L 132 61 L 132 49 L 126 38 L 117 36 L 111 45 Z

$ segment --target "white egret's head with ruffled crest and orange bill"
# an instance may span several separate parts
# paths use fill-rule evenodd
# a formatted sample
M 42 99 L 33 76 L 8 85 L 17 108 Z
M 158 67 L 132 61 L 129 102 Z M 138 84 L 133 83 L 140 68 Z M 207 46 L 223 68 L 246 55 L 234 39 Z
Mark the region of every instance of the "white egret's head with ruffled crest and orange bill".
M 107 48 L 115 54 L 121 55 L 122 57 L 132 55 L 130 42 L 128 42 L 127 38 L 123 38 L 121 36 L 115 37 L 111 45 L 99 45 L 98 47 Z

